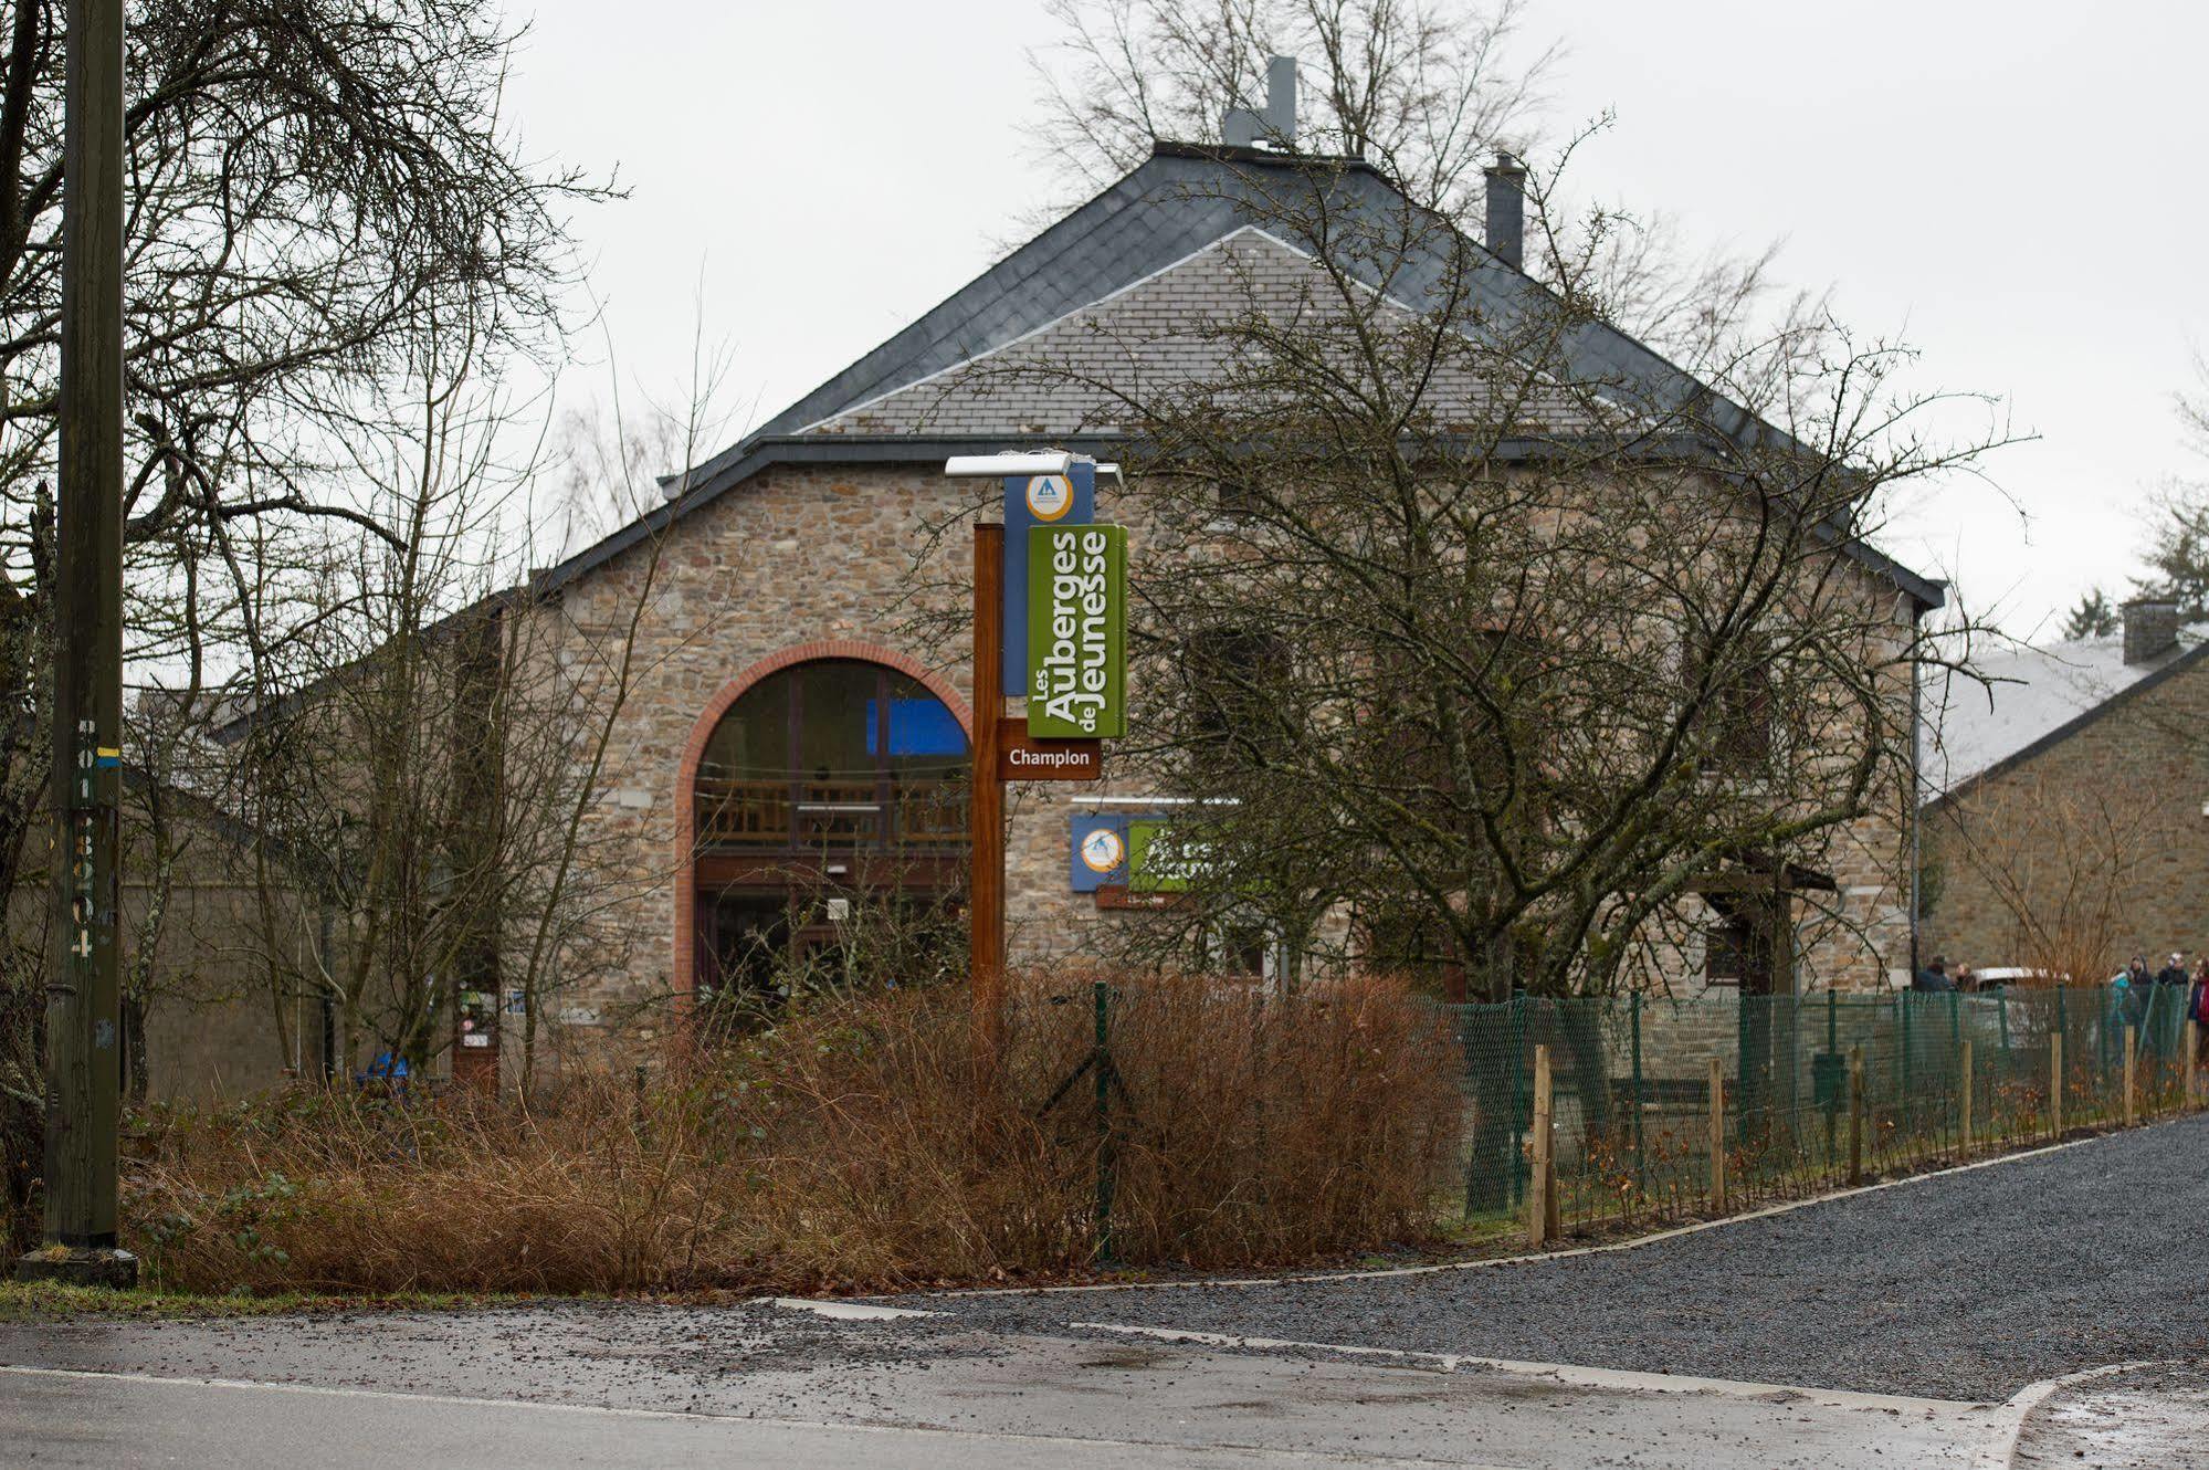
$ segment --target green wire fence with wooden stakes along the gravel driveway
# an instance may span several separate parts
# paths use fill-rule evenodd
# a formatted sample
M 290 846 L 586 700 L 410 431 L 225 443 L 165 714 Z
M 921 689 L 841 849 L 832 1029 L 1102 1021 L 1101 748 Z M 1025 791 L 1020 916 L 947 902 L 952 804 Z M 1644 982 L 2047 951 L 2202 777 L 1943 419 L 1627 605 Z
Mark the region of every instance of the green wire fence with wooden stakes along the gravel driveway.
M 1467 1112 L 1454 1209 L 1467 1222 L 1526 1209 L 1535 1048 L 1549 1048 L 1557 1216 L 1646 1222 L 2121 1123 L 2127 1043 L 2129 1116 L 2187 1107 L 2187 986 L 2143 986 L 1449 1006 Z

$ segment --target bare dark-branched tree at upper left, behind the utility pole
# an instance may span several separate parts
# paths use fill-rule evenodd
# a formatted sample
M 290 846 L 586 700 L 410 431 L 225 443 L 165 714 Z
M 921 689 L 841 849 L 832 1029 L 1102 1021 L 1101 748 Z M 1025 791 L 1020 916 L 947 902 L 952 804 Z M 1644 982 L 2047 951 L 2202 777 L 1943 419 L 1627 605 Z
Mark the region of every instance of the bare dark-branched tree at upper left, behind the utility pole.
M 4 15 L 0 891 L 15 893 L 42 851 L 64 38 L 51 0 Z M 373 524 L 340 449 L 378 387 L 462 305 L 504 349 L 541 347 L 570 276 L 563 210 L 603 190 L 521 157 L 499 113 L 515 31 L 488 0 L 133 0 L 126 20 L 126 641 L 144 665 L 241 639 L 236 581 L 199 575 L 225 550 Z M 4 951 L 31 968 L 7 977 L 7 1048 L 35 1057 L 18 917 Z M 11 1141 L 35 1130 L 27 1092 L 9 1090 Z

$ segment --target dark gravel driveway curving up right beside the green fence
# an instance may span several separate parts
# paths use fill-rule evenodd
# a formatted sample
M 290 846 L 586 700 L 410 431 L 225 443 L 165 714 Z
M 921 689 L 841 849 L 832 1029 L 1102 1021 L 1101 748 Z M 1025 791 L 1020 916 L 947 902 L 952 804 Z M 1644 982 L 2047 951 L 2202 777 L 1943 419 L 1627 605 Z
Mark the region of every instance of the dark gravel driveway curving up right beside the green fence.
M 1140 1324 L 1988 1401 L 2209 1355 L 2202 1220 L 2209 1114 L 1628 1251 L 903 1302 L 1010 1333 Z

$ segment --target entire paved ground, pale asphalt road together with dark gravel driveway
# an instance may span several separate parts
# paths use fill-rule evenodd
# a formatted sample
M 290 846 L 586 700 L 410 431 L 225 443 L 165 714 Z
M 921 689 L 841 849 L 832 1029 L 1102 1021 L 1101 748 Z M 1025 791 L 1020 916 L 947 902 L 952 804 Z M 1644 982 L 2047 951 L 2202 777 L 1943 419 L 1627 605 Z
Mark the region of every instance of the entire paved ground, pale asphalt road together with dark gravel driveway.
M 1997 1401 L 2030 1379 L 2205 1355 L 2205 1161 L 2189 1119 L 1626 1251 L 886 1320 L 11 1324 L 0 1463 L 1962 1470 L 2008 1443 Z M 2187 1373 L 2052 1397 L 2030 1463 L 2209 1459 L 2209 1377 Z

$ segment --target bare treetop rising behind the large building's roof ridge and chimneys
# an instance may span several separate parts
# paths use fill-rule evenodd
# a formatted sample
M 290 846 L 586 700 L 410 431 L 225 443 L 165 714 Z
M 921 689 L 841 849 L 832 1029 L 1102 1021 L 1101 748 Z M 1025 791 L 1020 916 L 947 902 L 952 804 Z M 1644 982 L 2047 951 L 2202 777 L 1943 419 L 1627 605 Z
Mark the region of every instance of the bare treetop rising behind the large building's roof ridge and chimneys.
M 1093 192 L 1158 141 L 1217 144 L 1228 108 L 1266 102 L 1268 57 L 1297 60 L 1292 135 L 1270 150 L 1363 159 L 1412 199 L 1480 221 L 1498 150 L 1533 157 L 1549 228 L 1526 270 L 1690 371 L 1811 332 L 1825 292 L 1787 287 L 1778 243 L 1694 243 L 1668 210 L 1571 199 L 1568 159 L 1615 119 L 1555 135 L 1564 53 L 1522 0 L 1054 0 L 1063 35 L 1032 55 L 1051 104 L 1034 124 L 1069 186 Z

